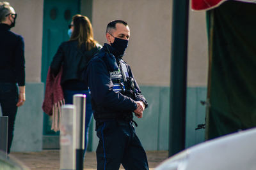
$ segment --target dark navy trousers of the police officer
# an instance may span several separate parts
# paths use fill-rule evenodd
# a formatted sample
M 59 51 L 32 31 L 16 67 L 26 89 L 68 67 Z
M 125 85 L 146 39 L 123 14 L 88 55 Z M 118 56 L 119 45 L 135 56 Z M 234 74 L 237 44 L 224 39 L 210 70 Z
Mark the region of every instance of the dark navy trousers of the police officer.
M 97 169 L 126 170 L 148 169 L 147 155 L 138 139 L 132 122 L 124 120 L 97 121 Z

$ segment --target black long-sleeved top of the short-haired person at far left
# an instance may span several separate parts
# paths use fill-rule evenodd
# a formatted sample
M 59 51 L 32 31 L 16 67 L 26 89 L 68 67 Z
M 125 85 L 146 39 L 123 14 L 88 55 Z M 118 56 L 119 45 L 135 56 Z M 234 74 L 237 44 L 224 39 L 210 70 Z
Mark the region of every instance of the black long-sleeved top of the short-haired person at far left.
M 25 85 L 24 40 L 0 24 L 0 82 Z

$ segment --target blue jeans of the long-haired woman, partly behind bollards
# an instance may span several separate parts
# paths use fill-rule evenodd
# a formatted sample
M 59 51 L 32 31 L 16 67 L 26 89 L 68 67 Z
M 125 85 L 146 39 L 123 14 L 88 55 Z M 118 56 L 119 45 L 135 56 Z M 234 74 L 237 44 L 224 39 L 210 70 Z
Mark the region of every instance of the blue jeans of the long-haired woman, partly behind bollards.
M 65 104 L 73 104 L 73 96 L 74 94 L 85 94 L 86 95 L 86 115 L 85 115 L 85 139 L 84 139 L 84 153 L 85 155 L 87 145 L 88 145 L 88 138 L 89 138 L 89 127 L 90 122 L 92 120 L 92 104 L 91 104 L 91 96 L 89 90 L 63 90 Z

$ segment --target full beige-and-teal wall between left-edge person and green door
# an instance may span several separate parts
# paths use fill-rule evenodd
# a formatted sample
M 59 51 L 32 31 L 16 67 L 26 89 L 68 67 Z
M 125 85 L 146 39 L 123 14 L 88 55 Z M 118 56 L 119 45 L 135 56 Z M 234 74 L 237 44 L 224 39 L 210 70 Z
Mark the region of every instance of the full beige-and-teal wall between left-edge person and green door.
M 41 106 L 44 97 L 44 84 L 41 83 L 44 0 L 8 2 L 18 14 L 12 31 L 24 38 L 26 60 L 26 102 L 18 109 L 12 152 L 40 151 L 43 122 Z

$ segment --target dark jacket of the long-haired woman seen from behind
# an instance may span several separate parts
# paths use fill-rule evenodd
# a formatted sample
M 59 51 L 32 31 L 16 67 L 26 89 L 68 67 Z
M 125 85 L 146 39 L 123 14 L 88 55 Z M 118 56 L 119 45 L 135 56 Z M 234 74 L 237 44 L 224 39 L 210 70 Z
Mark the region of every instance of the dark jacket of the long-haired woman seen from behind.
M 86 51 L 84 44 L 78 47 L 78 41 L 65 41 L 61 43 L 53 57 L 51 71 L 56 76 L 63 66 L 61 85 L 69 80 L 82 81 L 81 74 L 84 68 L 100 48 L 101 46 L 97 44 L 92 50 Z

